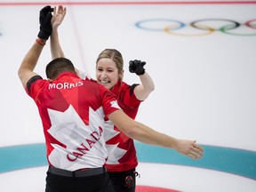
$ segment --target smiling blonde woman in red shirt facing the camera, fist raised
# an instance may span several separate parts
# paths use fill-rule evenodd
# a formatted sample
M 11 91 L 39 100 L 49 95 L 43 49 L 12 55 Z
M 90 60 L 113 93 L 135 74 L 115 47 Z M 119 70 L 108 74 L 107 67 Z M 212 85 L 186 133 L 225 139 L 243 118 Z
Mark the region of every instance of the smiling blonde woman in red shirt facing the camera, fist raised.
M 137 115 L 140 102 L 146 100 L 150 92 L 154 90 L 154 83 L 145 71 L 146 62 L 131 60 L 129 70 L 140 77 L 140 84 L 126 84 L 123 82 L 124 61 L 122 54 L 116 49 L 106 49 L 100 52 L 96 61 L 96 77 L 99 84 L 115 93 L 116 100 L 124 113 L 133 119 Z M 135 170 L 138 165 L 136 149 L 132 139 L 124 132 L 119 131 L 111 122 L 108 124 L 108 132 L 105 135 L 108 161 L 107 170 L 113 182 L 116 192 L 135 191 Z

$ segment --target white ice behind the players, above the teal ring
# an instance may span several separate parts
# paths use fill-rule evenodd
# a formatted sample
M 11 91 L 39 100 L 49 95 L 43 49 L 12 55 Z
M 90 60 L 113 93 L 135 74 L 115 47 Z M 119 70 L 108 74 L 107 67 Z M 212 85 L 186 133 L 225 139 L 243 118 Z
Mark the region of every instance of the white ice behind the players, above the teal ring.
M 21 60 L 35 41 L 41 7 L 0 6 L 3 100 L 0 146 L 44 142 L 36 106 L 23 91 L 17 76 Z M 107 47 L 116 48 L 123 53 L 124 81 L 130 84 L 139 79 L 127 70 L 129 60 L 146 60 L 156 91 L 140 108 L 137 119 L 141 122 L 202 144 L 255 150 L 255 36 L 230 36 L 220 31 L 209 36 L 172 36 L 164 31 L 135 27 L 140 20 L 153 19 L 188 24 L 217 18 L 244 23 L 255 19 L 255 7 L 255 4 L 68 5 L 60 27 L 60 43 L 76 67 L 91 76 L 98 54 Z M 159 23 L 153 24 L 151 28 L 158 28 Z M 207 25 L 212 25 L 211 21 Z M 44 75 L 49 60 L 47 44 L 36 72 Z

